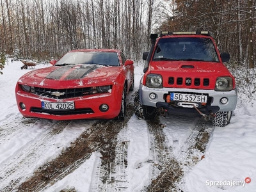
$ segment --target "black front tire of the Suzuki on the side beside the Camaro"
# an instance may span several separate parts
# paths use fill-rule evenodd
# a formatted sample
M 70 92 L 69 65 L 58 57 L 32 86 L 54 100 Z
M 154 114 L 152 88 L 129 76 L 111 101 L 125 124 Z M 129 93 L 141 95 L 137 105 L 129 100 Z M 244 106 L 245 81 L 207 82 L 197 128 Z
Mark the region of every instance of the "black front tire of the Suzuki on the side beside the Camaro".
M 140 90 L 135 93 L 134 97 L 134 114 L 138 119 L 152 120 L 157 116 L 157 109 L 151 106 L 145 106 L 140 102 Z

